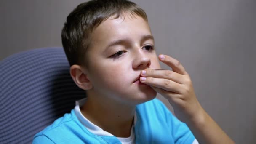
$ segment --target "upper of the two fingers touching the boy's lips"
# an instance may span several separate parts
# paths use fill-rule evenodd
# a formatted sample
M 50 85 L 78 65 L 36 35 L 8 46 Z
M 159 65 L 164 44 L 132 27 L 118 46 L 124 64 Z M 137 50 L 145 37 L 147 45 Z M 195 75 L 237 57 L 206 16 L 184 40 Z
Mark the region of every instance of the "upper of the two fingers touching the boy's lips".
M 177 72 L 173 72 L 171 70 L 163 69 L 146 69 L 141 71 L 141 76 L 168 79 L 179 84 L 184 84 L 186 80 L 184 75 L 178 74 Z

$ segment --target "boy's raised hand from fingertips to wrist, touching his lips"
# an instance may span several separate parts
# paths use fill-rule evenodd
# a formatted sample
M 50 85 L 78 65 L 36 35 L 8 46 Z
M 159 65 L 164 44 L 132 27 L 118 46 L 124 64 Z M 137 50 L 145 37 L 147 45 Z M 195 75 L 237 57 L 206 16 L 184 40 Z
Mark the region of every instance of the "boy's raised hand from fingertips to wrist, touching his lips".
M 173 106 L 174 113 L 184 123 L 195 121 L 203 114 L 197 101 L 192 81 L 179 61 L 170 56 L 160 55 L 160 61 L 173 69 L 146 69 L 141 71 L 140 81 L 150 85 L 164 96 Z

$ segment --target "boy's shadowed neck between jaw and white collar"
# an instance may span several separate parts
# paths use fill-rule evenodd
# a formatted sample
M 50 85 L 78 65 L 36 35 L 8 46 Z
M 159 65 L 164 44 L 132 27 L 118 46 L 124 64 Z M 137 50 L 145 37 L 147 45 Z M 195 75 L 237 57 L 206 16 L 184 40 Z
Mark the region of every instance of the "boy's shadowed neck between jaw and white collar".
M 87 100 L 80 109 L 88 120 L 104 131 L 117 137 L 129 137 L 135 107 L 87 93 Z

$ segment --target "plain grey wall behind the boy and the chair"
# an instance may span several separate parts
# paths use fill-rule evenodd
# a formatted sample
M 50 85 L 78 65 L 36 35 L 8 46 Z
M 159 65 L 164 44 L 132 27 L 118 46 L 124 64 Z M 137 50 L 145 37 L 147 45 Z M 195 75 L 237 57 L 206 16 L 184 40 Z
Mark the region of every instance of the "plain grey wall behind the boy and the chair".
M 256 143 L 256 0 L 133 1 L 148 15 L 157 53 L 181 61 L 208 114 L 236 143 Z M 61 46 L 64 21 L 81 2 L 1 0 L 0 60 Z

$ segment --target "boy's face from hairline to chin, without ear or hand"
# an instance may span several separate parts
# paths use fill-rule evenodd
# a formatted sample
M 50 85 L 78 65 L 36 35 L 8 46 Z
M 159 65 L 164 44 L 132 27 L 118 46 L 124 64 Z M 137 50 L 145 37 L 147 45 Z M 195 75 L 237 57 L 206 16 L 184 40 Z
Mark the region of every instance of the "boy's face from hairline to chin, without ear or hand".
M 140 104 L 156 92 L 139 82 L 141 70 L 160 69 L 147 21 L 136 16 L 109 18 L 91 34 L 88 49 L 88 79 L 94 91 L 106 99 Z

